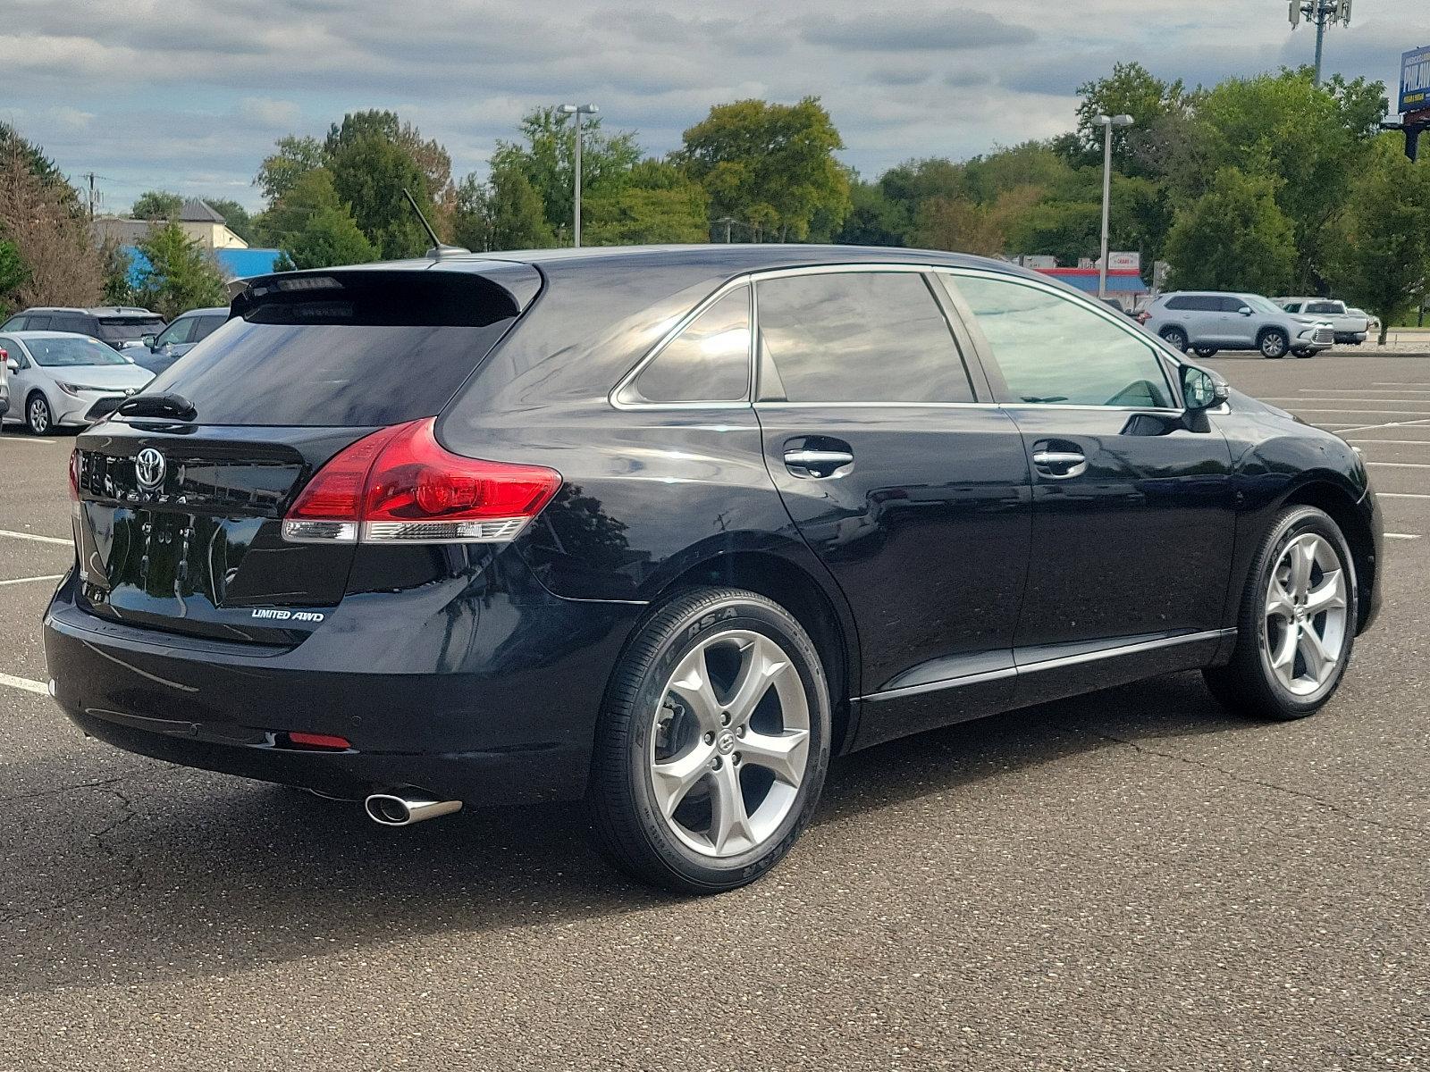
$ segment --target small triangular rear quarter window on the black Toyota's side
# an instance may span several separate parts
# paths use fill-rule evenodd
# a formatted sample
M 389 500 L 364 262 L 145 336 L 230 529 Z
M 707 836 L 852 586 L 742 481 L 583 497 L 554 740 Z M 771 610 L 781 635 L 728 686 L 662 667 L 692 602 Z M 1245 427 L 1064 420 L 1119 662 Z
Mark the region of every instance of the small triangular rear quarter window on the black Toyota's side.
M 636 377 L 648 402 L 739 402 L 749 394 L 749 287 L 714 302 Z

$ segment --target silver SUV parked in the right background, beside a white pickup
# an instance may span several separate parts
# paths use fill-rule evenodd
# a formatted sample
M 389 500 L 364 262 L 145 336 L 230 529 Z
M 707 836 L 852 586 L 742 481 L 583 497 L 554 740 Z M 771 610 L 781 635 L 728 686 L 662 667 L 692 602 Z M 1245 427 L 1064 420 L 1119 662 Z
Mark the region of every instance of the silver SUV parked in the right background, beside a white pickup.
M 1178 350 L 1210 357 L 1217 350 L 1260 350 L 1263 357 L 1310 357 L 1336 342 L 1326 317 L 1288 313 L 1261 294 L 1174 290 L 1137 317 Z

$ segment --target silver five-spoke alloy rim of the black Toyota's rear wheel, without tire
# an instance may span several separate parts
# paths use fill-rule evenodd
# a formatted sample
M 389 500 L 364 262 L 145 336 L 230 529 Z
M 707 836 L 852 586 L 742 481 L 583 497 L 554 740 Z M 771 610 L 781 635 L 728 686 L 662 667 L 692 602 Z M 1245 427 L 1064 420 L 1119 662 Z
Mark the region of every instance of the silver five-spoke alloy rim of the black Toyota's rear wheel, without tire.
M 715 858 L 766 842 L 809 760 L 809 703 L 791 657 L 764 633 L 714 633 L 681 659 L 662 696 L 649 775 L 671 833 Z

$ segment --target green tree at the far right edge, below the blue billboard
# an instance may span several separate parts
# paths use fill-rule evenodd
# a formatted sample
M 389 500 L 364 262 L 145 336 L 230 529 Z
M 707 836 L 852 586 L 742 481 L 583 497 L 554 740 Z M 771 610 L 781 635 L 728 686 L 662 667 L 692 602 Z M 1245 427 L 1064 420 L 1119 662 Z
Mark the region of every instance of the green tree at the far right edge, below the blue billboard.
M 1430 164 L 1413 164 L 1383 136 L 1356 180 L 1331 277 L 1337 292 L 1380 317 L 1380 342 L 1430 284 Z

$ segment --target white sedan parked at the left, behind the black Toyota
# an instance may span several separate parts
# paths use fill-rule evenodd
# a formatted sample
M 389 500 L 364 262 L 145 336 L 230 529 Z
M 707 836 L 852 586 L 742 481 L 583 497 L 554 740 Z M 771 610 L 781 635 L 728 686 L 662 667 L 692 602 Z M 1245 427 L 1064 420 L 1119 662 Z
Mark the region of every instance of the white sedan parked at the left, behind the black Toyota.
M 36 436 L 93 425 L 154 377 L 99 339 L 69 332 L 0 332 L 0 349 L 14 399 L 0 419 Z

